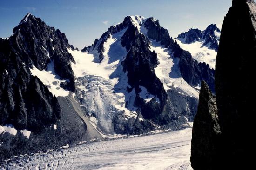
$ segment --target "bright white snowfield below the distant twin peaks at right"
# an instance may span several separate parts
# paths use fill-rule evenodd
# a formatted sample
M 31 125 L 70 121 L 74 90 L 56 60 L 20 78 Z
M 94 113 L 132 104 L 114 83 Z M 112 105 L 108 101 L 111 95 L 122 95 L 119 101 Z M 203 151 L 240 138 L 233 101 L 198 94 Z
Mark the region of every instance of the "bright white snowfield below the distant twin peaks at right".
M 218 33 L 218 32 L 216 32 Z M 214 49 L 210 49 L 207 46 L 202 46 L 204 41 L 195 41 L 191 44 L 182 43 L 182 39 L 175 39 L 182 49 L 191 53 L 192 57 L 197 62 L 205 62 L 209 64 L 210 68 L 215 69 L 217 52 Z

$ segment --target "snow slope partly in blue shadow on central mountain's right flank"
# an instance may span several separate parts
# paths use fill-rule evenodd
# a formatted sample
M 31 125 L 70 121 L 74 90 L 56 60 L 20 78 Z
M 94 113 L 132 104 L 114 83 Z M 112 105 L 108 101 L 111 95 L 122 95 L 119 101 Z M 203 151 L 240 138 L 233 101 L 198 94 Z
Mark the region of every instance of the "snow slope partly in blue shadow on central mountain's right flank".
M 155 74 L 163 83 L 165 90 L 180 89 L 182 94 L 199 98 L 199 90 L 190 86 L 181 76 L 179 59 L 171 56 L 170 51 L 160 43 L 151 40 L 151 50 L 155 50 L 160 64 L 155 68 Z

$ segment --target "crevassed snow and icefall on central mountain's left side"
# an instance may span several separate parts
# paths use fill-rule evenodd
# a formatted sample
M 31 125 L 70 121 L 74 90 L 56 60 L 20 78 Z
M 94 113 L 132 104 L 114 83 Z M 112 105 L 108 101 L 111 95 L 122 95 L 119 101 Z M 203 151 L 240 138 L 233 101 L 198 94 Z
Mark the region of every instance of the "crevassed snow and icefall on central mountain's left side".
M 72 54 L 75 64 L 72 69 L 76 77 L 78 97 L 81 106 L 87 108 L 88 116 L 96 116 L 103 133 L 112 134 L 112 118 L 116 111 L 124 111 L 128 118 L 136 118 L 137 114 L 133 106 L 134 92 L 127 92 L 128 77 L 122 70 L 121 61 L 125 59 L 127 51 L 121 46 L 121 37 L 126 29 L 110 36 L 104 43 L 104 58 L 99 63 L 95 61 L 97 53 L 80 52 L 77 50 L 68 52 Z M 128 106 L 125 107 L 125 103 Z M 93 115 L 94 114 L 94 115 Z

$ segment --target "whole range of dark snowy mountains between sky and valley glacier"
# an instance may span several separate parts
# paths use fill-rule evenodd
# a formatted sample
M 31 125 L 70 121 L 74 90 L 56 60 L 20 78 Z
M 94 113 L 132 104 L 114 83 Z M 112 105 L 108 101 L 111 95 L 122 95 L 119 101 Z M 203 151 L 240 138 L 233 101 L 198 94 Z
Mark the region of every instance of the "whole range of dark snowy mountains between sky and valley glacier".
M 159 20 L 127 16 L 79 51 L 28 13 L 0 39 L 1 158 L 186 127 L 201 81 L 215 92 L 215 61 L 201 62 L 182 46 L 216 52 L 219 34 L 210 25 L 172 39 Z

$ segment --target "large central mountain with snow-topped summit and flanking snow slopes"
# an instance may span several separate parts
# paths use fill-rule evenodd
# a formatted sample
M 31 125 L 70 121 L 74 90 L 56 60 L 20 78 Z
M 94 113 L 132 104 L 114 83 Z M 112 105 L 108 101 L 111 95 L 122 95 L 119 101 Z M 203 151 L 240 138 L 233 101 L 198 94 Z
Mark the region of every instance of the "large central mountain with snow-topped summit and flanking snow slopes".
M 193 120 L 200 81 L 214 83 L 214 71 L 192 59 L 154 18 L 127 16 L 93 45 L 69 52 L 78 99 L 103 133 L 177 128 Z

